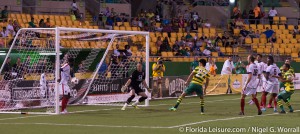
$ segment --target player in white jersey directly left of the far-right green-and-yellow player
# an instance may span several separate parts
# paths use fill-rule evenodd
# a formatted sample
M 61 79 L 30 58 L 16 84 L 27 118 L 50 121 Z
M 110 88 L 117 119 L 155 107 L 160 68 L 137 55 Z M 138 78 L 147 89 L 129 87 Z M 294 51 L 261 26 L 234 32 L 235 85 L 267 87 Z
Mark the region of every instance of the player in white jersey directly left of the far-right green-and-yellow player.
M 261 103 L 262 103 L 262 110 L 266 111 L 266 102 L 267 102 L 267 95 L 268 93 L 272 94 L 274 101 L 274 112 L 277 112 L 276 106 L 277 101 L 276 97 L 279 93 L 279 81 L 278 76 L 281 76 L 280 69 L 277 67 L 277 65 L 274 63 L 274 58 L 272 56 L 268 57 L 268 67 L 265 71 L 265 78 L 266 82 L 263 84 L 264 91 L 262 93 L 261 97 Z

